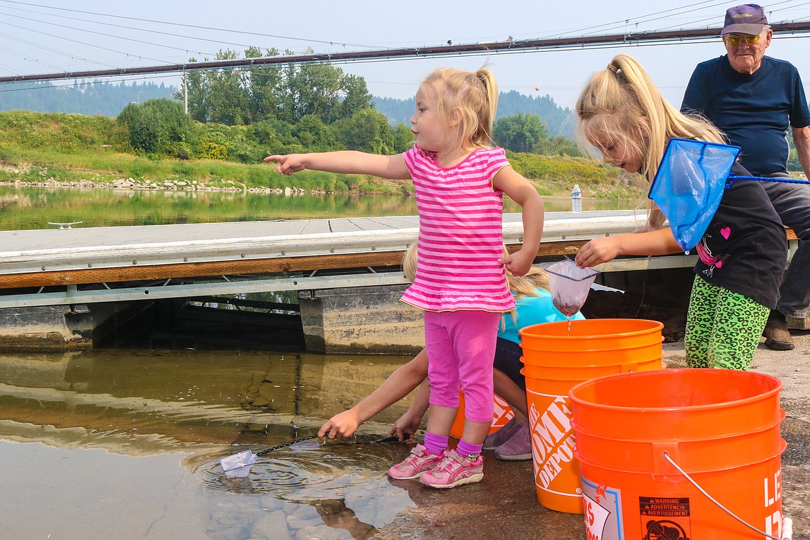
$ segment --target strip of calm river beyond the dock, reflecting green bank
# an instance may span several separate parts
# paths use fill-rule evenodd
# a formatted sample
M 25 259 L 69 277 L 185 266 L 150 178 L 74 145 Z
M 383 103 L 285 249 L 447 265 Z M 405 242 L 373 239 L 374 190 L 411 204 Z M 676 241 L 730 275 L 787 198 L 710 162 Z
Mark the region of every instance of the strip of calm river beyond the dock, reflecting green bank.
M 571 210 L 570 198 L 544 198 L 545 210 Z M 645 201 L 582 201 L 583 210 L 629 210 Z M 520 207 L 508 198 L 506 212 Z M 316 219 L 416 215 L 416 200 L 404 195 L 147 191 L 34 188 L 0 185 L 0 228 L 49 228 L 48 222 L 82 221 L 79 227 L 217 223 L 266 219 Z

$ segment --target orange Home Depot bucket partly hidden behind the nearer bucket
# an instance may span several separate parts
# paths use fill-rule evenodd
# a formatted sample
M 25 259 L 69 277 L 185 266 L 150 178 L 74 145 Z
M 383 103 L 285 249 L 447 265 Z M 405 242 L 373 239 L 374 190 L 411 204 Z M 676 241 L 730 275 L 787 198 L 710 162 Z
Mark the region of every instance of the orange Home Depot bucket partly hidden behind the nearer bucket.
M 663 324 L 645 319 L 547 322 L 520 330 L 537 500 L 582 513 L 569 390 L 582 381 L 660 369 Z

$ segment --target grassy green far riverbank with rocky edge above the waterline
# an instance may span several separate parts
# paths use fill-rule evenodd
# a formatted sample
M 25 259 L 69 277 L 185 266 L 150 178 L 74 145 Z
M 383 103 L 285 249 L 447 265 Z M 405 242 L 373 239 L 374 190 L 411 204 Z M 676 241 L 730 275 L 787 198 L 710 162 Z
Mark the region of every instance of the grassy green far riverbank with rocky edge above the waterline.
M 202 130 L 247 129 L 199 125 Z M 294 149 L 291 149 L 294 150 Z M 514 168 L 544 196 L 568 195 L 578 184 L 586 197 L 638 198 L 645 186 L 635 176 L 592 159 L 514 154 Z M 155 159 L 131 151 L 115 119 L 62 113 L 0 113 L 0 182 L 22 185 L 113 187 L 132 179 L 130 187 L 151 189 L 298 189 L 314 193 L 409 193 L 409 181 L 373 176 L 304 171 L 282 176 L 268 164 L 224 159 Z

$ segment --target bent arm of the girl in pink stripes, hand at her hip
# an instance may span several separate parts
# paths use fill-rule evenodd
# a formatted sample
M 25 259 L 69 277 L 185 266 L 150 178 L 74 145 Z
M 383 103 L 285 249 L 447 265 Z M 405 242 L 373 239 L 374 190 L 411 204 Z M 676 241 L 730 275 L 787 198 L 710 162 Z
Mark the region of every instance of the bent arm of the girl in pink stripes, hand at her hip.
M 531 268 L 540 249 L 540 237 L 543 236 L 544 208 L 534 185 L 527 181 L 514 168 L 501 168 L 492 179 L 492 187 L 506 193 L 510 199 L 522 208 L 523 244 L 520 251 L 504 257 L 499 262 L 512 274 L 523 275 Z

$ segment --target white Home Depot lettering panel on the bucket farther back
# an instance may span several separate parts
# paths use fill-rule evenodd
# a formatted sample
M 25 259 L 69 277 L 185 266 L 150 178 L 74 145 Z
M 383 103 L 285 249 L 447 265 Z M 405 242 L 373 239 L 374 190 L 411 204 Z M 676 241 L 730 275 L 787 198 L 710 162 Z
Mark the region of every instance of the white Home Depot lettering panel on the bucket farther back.
M 576 436 L 571 427 L 573 413 L 568 400 L 548 396 L 552 401 L 545 410 L 529 409 L 531 453 L 535 462 L 535 483 L 548 491 L 579 494 L 579 466 L 573 457 Z

